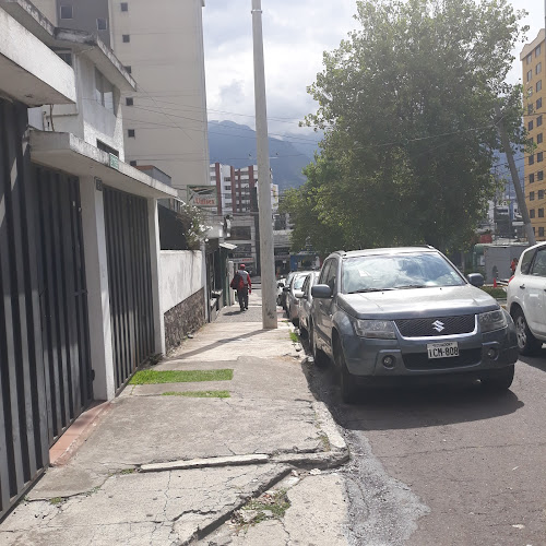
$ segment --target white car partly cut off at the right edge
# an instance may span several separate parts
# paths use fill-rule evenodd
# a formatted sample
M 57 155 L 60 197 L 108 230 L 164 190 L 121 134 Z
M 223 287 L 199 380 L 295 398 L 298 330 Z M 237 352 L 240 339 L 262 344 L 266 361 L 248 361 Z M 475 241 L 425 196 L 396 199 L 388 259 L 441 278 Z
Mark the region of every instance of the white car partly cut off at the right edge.
M 546 343 L 546 242 L 522 253 L 507 293 L 520 353 L 535 354 Z

